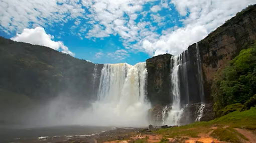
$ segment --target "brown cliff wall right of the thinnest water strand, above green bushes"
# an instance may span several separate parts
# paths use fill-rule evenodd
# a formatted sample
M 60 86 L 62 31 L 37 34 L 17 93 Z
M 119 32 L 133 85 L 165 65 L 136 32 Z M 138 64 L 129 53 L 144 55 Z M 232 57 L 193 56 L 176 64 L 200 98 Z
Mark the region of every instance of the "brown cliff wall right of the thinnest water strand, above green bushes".
M 223 69 L 241 49 L 247 48 L 255 40 L 256 5 L 251 5 L 198 42 L 206 101 L 211 101 L 210 87 L 215 72 Z M 196 44 L 190 45 L 188 50 L 191 58 L 195 58 Z

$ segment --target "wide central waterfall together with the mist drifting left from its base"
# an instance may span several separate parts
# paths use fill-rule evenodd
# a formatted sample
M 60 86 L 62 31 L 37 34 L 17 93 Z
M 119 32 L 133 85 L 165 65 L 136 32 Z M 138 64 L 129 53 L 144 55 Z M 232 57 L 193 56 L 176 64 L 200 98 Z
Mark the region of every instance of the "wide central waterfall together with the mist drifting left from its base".
M 146 92 L 146 63 L 105 64 L 96 97 L 88 99 L 67 92 L 26 109 L 12 109 L 6 116 L 22 127 L 90 125 L 142 127 L 149 124 L 151 108 Z M 95 96 L 94 95 L 94 96 Z M 6 119 L 9 120 L 9 119 Z M 15 125 L 16 123 L 12 123 Z

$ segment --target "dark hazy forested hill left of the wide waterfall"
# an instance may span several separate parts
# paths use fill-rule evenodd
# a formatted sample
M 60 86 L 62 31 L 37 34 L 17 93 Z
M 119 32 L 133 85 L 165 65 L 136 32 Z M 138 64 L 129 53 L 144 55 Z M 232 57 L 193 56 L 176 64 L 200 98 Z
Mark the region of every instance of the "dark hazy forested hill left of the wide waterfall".
M 95 85 L 98 85 L 102 65 L 98 68 Z M 58 95 L 90 100 L 97 88 L 92 83 L 93 69 L 93 63 L 49 47 L 0 37 L 2 91 L 23 94 L 34 101 Z M 5 96 L 8 95 L 5 93 Z

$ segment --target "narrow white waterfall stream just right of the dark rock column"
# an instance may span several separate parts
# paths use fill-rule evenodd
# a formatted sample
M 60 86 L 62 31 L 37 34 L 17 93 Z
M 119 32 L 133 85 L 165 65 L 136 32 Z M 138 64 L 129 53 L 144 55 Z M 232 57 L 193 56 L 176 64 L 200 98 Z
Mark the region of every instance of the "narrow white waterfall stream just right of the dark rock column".
M 179 120 L 183 113 L 183 108 L 181 108 L 180 103 L 180 83 L 179 83 L 179 66 L 180 60 L 179 56 L 173 56 L 171 61 L 174 62 L 173 70 L 172 70 L 172 94 L 173 94 L 173 104 L 172 108 L 168 113 L 167 122 L 170 125 L 179 125 Z

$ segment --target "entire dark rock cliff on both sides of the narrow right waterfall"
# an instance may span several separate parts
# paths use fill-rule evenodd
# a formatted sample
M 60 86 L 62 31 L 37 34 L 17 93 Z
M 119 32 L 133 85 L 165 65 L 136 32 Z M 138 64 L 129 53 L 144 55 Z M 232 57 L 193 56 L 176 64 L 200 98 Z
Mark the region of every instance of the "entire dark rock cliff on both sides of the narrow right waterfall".
M 185 107 L 184 104 L 188 104 L 184 110 L 186 117 L 183 117 L 181 121 L 194 121 L 194 112 L 198 110 L 198 102 L 206 103 L 201 120 L 213 118 L 213 100 L 210 89 L 215 72 L 223 69 L 225 64 L 233 59 L 241 49 L 247 48 L 255 40 L 256 4 L 247 7 L 227 20 L 199 41 L 198 47 L 194 43 L 188 47 L 188 50 L 179 55 L 178 84 L 181 106 Z M 201 59 L 200 63 L 198 62 L 199 59 Z M 171 91 L 173 87 L 170 75 L 171 68 L 173 68 L 172 62 L 163 55 L 147 60 L 148 96 L 153 105 L 160 103 L 158 105 L 160 109 L 155 109 L 156 111 L 162 111 L 163 105 L 172 103 L 173 95 Z M 171 66 L 169 66 L 170 64 Z M 200 79 L 200 74 L 202 79 Z M 202 84 L 202 87 L 200 87 L 200 84 Z

